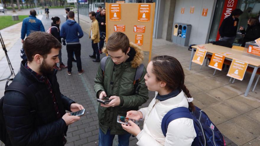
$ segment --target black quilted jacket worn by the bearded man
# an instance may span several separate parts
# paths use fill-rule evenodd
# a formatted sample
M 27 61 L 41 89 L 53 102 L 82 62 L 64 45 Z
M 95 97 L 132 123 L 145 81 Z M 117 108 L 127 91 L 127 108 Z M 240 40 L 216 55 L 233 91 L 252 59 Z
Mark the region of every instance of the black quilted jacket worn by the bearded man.
M 32 111 L 26 96 L 17 91 L 7 91 L 4 96 L 3 113 L 13 146 L 63 146 L 63 136 L 68 126 L 65 121 L 57 119 L 53 99 L 44 82 L 39 81 L 27 68 L 27 60 L 21 63 L 20 71 L 13 81 L 28 86 L 35 95 L 36 111 Z M 56 77 L 57 70 L 48 75 L 56 97 L 58 109 L 63 116 L 65 109 L 70 111 L 73 100 L 61 94 Z M 9 146 L 9 145 L 6 145 Z

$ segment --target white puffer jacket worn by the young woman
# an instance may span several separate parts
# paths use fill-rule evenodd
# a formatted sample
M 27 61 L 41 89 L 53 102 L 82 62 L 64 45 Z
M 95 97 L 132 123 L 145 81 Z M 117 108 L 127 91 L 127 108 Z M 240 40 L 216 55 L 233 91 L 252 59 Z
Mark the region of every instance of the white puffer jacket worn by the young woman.
M 155 94 L 157 95 L 157 93 Z M 177 96 L 159 101 L 153 99 L 148 107 L 142 108 L 144 115 L 143 130 L 137 135 L 139 146 L 191 146 L 196 132 L 193 120 L 179 118 L 169 123 L 166 137 L 164 137 L 161 123 L 164 115 L 177 107 L 189 107 L 186 96 L 181 91 Z

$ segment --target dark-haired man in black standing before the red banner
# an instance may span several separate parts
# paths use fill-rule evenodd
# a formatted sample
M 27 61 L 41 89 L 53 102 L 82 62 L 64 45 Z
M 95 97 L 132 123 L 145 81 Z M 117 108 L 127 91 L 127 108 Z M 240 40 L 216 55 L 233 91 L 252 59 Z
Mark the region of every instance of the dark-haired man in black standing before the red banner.
M 243 14 L 241 9 L 235 9 L 231 12 L 231 15 L 223 20 L 220 25 L 219 33 L 220 33 L 220 40 L 229 42 L 231 45 L 235 41 L 235 37 L 237 35 L 238 29 L 238 17 Z

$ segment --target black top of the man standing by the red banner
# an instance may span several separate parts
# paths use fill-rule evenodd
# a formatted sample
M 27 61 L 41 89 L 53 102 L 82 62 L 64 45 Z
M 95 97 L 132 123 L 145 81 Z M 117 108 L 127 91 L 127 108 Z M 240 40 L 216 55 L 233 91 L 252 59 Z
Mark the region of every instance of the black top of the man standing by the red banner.
M 235 37 L 238 29 L 238 18 L 233 19 L 229 16 L 220 25 L 219 33 L 221 37 Z

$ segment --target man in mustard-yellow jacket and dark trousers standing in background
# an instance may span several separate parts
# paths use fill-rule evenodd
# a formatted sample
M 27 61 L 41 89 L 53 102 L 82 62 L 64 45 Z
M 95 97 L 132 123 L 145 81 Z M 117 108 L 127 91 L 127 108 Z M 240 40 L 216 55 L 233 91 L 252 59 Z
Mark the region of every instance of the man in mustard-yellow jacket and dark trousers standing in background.
M 90 20 L 92 20 L 89 38 L 91 38 L 91 44 L 93 49 L 93 55 L 89 55 L 89 57 L 95 58 L 95 60 L 92 60 L 93 62 L 100 62 L 100 53 L 98 50 L 98 42 L 100 41 L 99 40 L 100 35 L 99 35 L 98 21 L 96 20 L 96 13 L 90 12 L 89 17 Z

